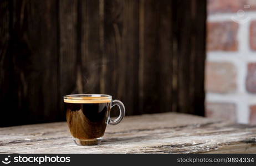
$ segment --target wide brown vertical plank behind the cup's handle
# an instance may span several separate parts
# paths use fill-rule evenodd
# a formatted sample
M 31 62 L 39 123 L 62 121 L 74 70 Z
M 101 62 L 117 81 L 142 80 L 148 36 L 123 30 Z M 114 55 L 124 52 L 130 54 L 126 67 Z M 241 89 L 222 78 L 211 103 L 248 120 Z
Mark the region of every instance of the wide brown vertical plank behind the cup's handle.
M 109 59 L 105 92 L 124 102 L 126 115 L 137 114 L 139 2 L 105 1 L 105 51 Z M 113 113 L 118 115 L 119 112 Z

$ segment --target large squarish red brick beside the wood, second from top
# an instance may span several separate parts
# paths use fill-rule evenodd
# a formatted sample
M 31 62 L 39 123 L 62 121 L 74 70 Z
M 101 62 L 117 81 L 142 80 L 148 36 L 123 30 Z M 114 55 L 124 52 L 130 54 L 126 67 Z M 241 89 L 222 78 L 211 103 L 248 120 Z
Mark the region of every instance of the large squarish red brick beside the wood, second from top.
M 235 22 L 207 23 L 207 50 L 237 51 L 237 32 Z

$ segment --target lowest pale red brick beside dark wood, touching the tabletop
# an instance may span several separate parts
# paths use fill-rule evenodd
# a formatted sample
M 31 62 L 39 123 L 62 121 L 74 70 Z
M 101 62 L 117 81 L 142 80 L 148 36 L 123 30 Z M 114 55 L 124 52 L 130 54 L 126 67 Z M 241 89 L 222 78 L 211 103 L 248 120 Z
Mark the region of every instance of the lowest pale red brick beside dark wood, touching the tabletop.
M 235 122 L 236 106 L 234 103 L 226 102 L 207 102 L 206 103 L 206 116 L 210 118 L 219 118 L 222 120 Z

